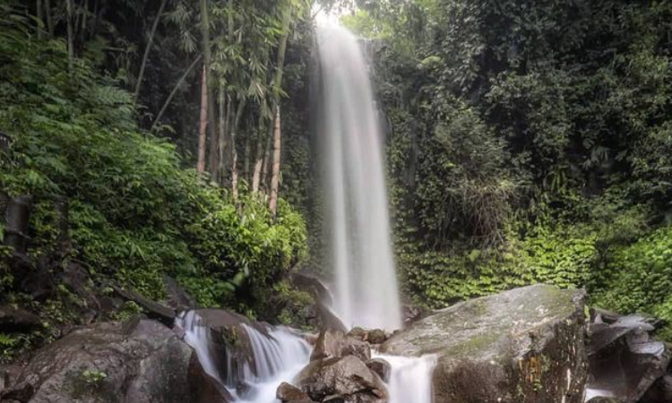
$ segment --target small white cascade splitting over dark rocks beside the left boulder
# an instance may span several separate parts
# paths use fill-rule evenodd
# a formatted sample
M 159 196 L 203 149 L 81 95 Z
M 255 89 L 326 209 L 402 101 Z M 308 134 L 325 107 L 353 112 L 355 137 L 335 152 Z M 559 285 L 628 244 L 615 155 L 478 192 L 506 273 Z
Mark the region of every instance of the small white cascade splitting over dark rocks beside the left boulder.
M 280 383 L 292 382 L 301 369 L 310 361 L 312 348 L 300 335 L 283 327 L 269 328 L 268 334 L 241 324 L 254 353 L 254 369 L 244 364 L 236 373 L 227 355 L 226 373 L 222 374 L 211 350 L 210 330 L 204 326 L 194 311 L 184 313 L 177 319 L 185 330 L 185 342 L 194 348 L 203 370 L 219 381 L 237 403 L 273 403 Z M 226 375 L 226 376 L 223 376 Z M 237 390 L 238 383 L 246 385 L 245 391 Z

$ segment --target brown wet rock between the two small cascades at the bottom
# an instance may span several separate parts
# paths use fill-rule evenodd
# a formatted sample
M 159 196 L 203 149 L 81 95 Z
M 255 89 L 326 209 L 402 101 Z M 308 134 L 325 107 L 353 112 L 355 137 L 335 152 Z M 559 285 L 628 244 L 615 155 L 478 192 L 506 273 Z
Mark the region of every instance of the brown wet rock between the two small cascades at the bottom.
M 314 361 L 298 374 L 297 385 L 315 401 L 387 401 L 387 390 L 383 382 L 357 356 Z

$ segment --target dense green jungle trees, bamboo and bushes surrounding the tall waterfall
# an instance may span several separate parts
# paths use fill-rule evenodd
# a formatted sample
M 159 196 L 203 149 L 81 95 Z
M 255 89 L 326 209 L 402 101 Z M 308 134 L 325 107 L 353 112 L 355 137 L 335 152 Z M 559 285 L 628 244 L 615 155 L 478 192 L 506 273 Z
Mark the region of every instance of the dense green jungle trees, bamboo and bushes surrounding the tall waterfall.
M 170 276 L 295 320 L 289 273 L 328 271 L 318 9 L 366 38 L 409 303 L 546 282 L 672 322 L 668 2 L 0 0 L 0 190 L 32 206 L 0 304 L 45 322 L 0 359 L 84 321 L 73 264 L 97 293 L 161 300 Z

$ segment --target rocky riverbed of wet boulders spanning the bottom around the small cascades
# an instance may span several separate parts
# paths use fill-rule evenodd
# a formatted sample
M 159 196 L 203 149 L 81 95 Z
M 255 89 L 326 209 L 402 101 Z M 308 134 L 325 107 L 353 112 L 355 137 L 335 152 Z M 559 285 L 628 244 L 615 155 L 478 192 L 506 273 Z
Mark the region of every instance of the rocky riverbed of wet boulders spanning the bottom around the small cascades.
M 333 327 L 306 334 L 312 354 L 280 384 L 277 398 L 394 401 L 389 355 L 433 357 L 434 403 L 582 403 L 586 390 L 591 402 L 672 401 L 668 348 L 650 339 L 658 323 L 644 315 L 590 314 L 585 298 L 582 290 L 523 287 L 453 305 L 392 335 Z M 267 357 L 255 356 L 255 343 L 273 338 L 269 325 L 222 310 L 192 311 L 210 340 L 204 351 L 213 373 L 185 342 L 184 322 L 146 305 L 158 311 L 155 319 L 78 328 L 5 366 L 0 401 L 223 403 L 245 396 L 251 377 L 261 376 L 260 358 Z M 26 320 L 22 315 L 4 323 Z

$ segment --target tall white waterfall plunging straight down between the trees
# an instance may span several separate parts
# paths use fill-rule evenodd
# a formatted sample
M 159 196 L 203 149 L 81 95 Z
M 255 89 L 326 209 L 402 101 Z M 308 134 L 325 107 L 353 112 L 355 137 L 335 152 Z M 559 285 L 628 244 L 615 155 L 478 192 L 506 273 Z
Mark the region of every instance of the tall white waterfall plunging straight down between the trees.
M 383 134 L 358 39 L 318 27 L 320 136 L 327 173 L 334 310 L 347 326 L 401 328 L 383 169 Z

